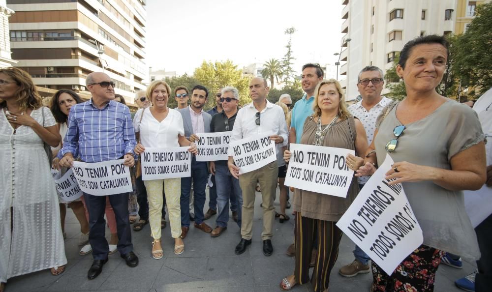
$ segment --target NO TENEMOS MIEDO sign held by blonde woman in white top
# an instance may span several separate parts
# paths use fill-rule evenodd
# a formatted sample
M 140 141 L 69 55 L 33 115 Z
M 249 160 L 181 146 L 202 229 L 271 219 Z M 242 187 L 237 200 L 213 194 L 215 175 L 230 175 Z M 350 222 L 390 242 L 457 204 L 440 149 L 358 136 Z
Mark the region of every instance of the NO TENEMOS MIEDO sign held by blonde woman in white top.
M 142 180 L 191 176 L 188 147 L 145 148 L 142 159 Z

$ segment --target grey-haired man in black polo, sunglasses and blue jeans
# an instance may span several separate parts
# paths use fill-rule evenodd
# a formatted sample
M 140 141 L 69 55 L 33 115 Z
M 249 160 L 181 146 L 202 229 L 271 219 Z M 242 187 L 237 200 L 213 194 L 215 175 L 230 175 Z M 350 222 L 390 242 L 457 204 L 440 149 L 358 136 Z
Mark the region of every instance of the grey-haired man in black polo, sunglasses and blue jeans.
M 212 117 L 210 131 L 213 133 L 232 131 L 238 113 L 238 89 L 228 86 L 222 88 L 220 93 L 222 111 Z M 227 160 L 211 161 L 209 164 L 209 171 L 215 176 L 218 212 L 216 227 L 210 235 L 212 237 L 217 237 L 227 229 L 227 222 L 229 221 L 229 200 L 231 201 L 231 205 L 236 203 L 237 206 L 242 206 L 243 193 L 241 191 L 241 186 L 239 185 L 239 179 L 232 176 L 227 167 Z M 237 208 L 236 212 L 237 219 L 235 221 L 241 229 L 241 208 Z

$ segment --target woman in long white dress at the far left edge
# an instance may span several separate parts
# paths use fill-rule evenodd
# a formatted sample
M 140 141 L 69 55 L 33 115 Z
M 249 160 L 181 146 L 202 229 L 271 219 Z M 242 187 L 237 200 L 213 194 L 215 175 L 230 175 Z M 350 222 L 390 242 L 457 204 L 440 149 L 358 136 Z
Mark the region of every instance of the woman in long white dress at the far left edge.
M 61 137 L 41 101 L 28 73 L 0 69 L 0 292 L 11 277 L 48 268 L 59 275 L 66 264 L 44 147 L 58 146 Z

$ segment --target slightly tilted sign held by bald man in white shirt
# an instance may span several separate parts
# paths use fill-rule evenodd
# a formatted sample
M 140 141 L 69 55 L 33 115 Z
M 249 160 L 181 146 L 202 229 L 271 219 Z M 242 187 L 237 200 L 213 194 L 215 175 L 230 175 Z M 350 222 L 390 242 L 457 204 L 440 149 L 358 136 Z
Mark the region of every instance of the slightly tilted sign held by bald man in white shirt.
M 277 160 L 275 143 L 270 135 L 255 135 L 231 143 L 232 157 L 239 173 L 245 174 L 257 170 Z

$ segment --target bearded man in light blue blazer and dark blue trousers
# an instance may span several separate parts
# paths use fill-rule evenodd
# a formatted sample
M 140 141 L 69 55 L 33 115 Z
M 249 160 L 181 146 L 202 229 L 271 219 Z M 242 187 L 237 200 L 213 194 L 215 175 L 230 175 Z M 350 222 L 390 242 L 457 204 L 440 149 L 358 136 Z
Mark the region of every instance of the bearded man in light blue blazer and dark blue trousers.
M 190 141 L 196 141 L 196 133 L 210 132 L 210 121 L 212 116 L 203 111 L 207 102 L 209 91 L 207 88 L 197 85 L 191 90 L 191 103 L 188 107 L 179 110 L 183 117 L 184 136 Z M 193 156 L 191 160 L 191 177 L 181 179 L 181 238 L 186 237 L 189 230 L 189 193 L 191 190 L 191 179 L 193 179 L 195 210 L 195 227 L 210 233 L 212 228 L 203 222 L 203 206 L 205 205 L 205 188 L 209 176 L 207 162 L 197 162 Z

